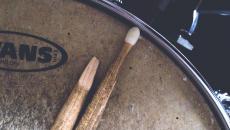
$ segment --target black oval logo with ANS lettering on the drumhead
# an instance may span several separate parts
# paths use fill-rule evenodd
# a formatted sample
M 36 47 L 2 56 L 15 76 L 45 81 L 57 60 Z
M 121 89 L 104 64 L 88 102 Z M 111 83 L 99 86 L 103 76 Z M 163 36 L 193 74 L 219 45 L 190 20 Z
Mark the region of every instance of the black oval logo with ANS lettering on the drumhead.
M 37 72 L 55 69 L 67 61 L 56 43 L 26 33 L 0 31 L 0 70 Z

